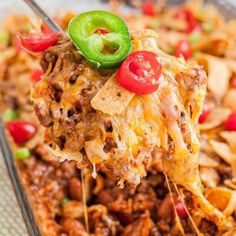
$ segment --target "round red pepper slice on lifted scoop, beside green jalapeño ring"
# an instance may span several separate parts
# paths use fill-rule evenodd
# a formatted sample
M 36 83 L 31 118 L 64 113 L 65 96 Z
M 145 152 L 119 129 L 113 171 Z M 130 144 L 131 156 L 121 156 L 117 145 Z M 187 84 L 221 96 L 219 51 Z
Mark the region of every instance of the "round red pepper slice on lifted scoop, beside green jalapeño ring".
M 118 83 L 130 92 L 143 95 L 158 89 L 162 66 L 157 55 L 138 51 L 130 54 L 117 72 Z

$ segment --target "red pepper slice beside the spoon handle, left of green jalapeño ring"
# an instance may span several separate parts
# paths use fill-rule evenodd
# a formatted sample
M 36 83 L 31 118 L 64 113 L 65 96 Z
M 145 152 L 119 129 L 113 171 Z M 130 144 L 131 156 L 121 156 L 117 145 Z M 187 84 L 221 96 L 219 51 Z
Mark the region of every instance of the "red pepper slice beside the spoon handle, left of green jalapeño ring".
M 27 37 L 17 34 L 21 46 L 31 52 L 43 52 L 50 46 L 53 46 L 58 39 L 59 33 L 43 34 L 30 33 Z

